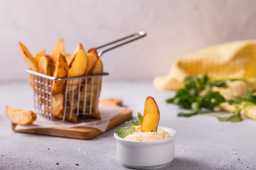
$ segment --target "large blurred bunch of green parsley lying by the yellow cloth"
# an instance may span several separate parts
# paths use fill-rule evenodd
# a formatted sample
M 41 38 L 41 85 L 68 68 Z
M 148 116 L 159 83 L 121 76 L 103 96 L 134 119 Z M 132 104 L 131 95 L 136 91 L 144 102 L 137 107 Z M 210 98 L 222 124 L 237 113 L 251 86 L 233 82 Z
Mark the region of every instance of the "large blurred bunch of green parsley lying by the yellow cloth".
M 223 102 L 229 102 L 230 105 L 243 104 L 243 108 L 256 104 L 256 96 L 254 91 L 248 91 L 243 97 L 233 97 L 231 100 L 226 101 L 225 98 L 218 92 L 213 91 L 213 87 L 227 88 L 227 81 L 247 81 L 247 79 L 226 79 L 210 81 L 207 75 L 199 77 L 198 75 L 189 76 L 184 79 L 184 88 L 177 91 L 175 97 L 167 99 L 167 103 L 172 103 L 180 106 L 181 108 L 190 109 L 189 113 L 178 113 L 181 117 L 190 117 L 197 114 L 206 114 L 207 111 L 214 111 L 215 108 L 220 108 Z M 231 116 L 223 117 L 222 115 L 214 115 L 220 121 L 241 121 L 243 120 L 240 115 L 240 108 L 235 112 L 226 112 Z

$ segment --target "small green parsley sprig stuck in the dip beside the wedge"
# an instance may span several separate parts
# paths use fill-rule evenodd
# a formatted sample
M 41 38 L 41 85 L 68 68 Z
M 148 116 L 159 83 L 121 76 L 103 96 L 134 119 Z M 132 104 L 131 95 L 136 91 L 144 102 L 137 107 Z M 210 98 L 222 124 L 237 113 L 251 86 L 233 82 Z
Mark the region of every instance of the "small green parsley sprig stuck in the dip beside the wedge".
M 132 126 L 128 126 L 128 127 L 120 127 L 120 128 L 117 128 L 114 132 L 121 138 L 124 138 L 126 137 L 131 131 L 132 131 L 132 128 L 133 126 L 139 126 L 141 125 L 142 123 L 142 119 L 143 119 L 143 116 L 141 115 L 141 113 L 138 112 L 138 120 L 136 121 L 126 121 L 124 122 L 125 124 L 131 124 Z

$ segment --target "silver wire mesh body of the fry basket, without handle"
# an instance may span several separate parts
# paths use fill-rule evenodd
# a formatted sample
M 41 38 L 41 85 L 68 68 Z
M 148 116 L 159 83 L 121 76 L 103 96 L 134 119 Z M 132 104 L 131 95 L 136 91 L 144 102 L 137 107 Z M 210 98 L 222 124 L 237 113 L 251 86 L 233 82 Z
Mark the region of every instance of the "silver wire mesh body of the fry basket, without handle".
M 32 87 L 34 89 L 35 112 L 52 121 L 60 120 L 53 115 L 52 84 L 53 81 L 65 81 L 63 121 L 71 120 L 72 115 L 79 119 L 87 119 L 92 115 L 97 117 L 99 93 L 101 88 L 100 79 L 108 73 L 99 75 L 56 78 L 26 70 L 31 74 Z M 76 81 L 75 81 L 76 80 Z M 76 83 L 78 82 L 78 83 Z M 82 90 L 85 89 L 85 90 Z

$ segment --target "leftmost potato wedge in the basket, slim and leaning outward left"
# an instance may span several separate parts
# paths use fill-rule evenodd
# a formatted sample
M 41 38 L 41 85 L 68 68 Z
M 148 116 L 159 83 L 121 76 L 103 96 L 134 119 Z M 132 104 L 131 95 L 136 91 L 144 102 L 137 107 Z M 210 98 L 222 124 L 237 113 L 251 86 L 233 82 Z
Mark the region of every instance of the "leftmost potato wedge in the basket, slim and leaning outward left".
M 23 58 L 29 65 L 29 68 L 32 71 L 38 71 L 37 63 L 34 57 L 31 55 L 31 53 L 28 51 L 27 47 L 19 42 L 20 52 L 22 53 Z

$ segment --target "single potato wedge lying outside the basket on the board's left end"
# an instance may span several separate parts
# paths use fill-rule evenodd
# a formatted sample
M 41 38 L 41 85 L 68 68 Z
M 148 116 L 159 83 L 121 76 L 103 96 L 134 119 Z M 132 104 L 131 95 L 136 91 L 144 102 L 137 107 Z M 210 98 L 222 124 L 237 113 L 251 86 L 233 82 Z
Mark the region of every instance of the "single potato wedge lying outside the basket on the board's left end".
M 5 112 L 7 117 L 9 117 L 11 122 L 14 124 L 29 125 L 36 120 L 36 114 L 32 111 L 20 110 L 20 109 L 12 108 L 7 105 Z

